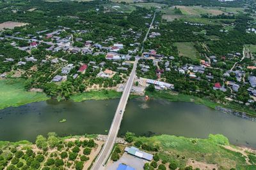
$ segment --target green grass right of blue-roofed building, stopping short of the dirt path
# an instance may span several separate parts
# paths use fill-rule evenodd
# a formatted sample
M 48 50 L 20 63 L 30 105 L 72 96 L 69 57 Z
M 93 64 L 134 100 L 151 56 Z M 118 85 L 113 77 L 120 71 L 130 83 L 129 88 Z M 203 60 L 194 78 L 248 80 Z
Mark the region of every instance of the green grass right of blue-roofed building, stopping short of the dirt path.
M 188 159 L 194 159 L 207 164 L 218 164 L 221 169 L 234 166 L 246 167 L 246 161 L 241 153 L 232 152 L 222 145 L 229 145 L 228 139 L 221 134 L 209 135 L 208 139 L 184 138 L 171 135 L 135 137 L 134 141 L 142 141 L 149 146 L 158 146 L 159 157 L 167 162 L 175 161 L 186 166 Z

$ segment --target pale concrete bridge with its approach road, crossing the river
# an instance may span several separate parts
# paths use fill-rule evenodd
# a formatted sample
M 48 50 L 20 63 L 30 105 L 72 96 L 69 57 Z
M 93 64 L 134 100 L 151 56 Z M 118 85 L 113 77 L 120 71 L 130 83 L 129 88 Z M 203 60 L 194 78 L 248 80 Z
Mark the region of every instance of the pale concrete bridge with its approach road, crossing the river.
M 134 77 L 136 75 L 136 67 L 138 64 L 138 60 L 139 59 L 136 59 L 134 62 L 131 74 L 129 76 L 129 79 L 127 80 L 124 92 L 122 94 L 122 97 L 121 97 L 118 107 L 116 109 L 115 117 L 113 119 L 113 122 L 111 124 L 110 130 L 108 133 L 108 138 L 107 138 L 99 156 L 97 157 L 95 163 L 93 164 L 93 167 L 92 167 L 93 170 L 104 169 L 104 164 L 107 162 L 108 157 L 111 153 L 111 150 L 112 150 L 113 146 L 115 145 L 116 136 L 118 134 L 120 124 L 122 122 L 122 118 L 123 118 L 124 111 L 125 111 L 125 106 L 127 104 L 127 101 L 128 101 L 131 89 L 132 89 Z

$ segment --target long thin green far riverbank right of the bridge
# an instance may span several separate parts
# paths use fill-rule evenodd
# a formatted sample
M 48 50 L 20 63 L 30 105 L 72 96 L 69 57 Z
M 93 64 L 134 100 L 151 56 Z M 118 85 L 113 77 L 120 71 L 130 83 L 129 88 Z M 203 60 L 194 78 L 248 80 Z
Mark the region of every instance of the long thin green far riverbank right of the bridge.
M 170 102 L 191 102 L 191 103 L 196 103 L 196 104 L 204 104 L 205 106 L 208 106 L 209 108 L 212 108 L 212 109 L 215 109 L 216 106 L 221 106 L 223 108 L 229 108 L 229 109 L 232 109 L 235 111 L 242 111 L 242 112 L 245 112 L 247 115 L 256 117 L 255 111 L 250 110 L 249 108 L 243 108 L 239 104 L 214 103 L 214 102 L 210 101 L 209 99 L 200 98 L 200 97 L 196 97 L 196 96 L 189 96 L 186 94 L 179 94 L 177 92 L 171 92 L 171 91 L 146 92 L 145 95 L 149 96 L 150 98 L 155 98 L 155 99 L 166 99 Z

